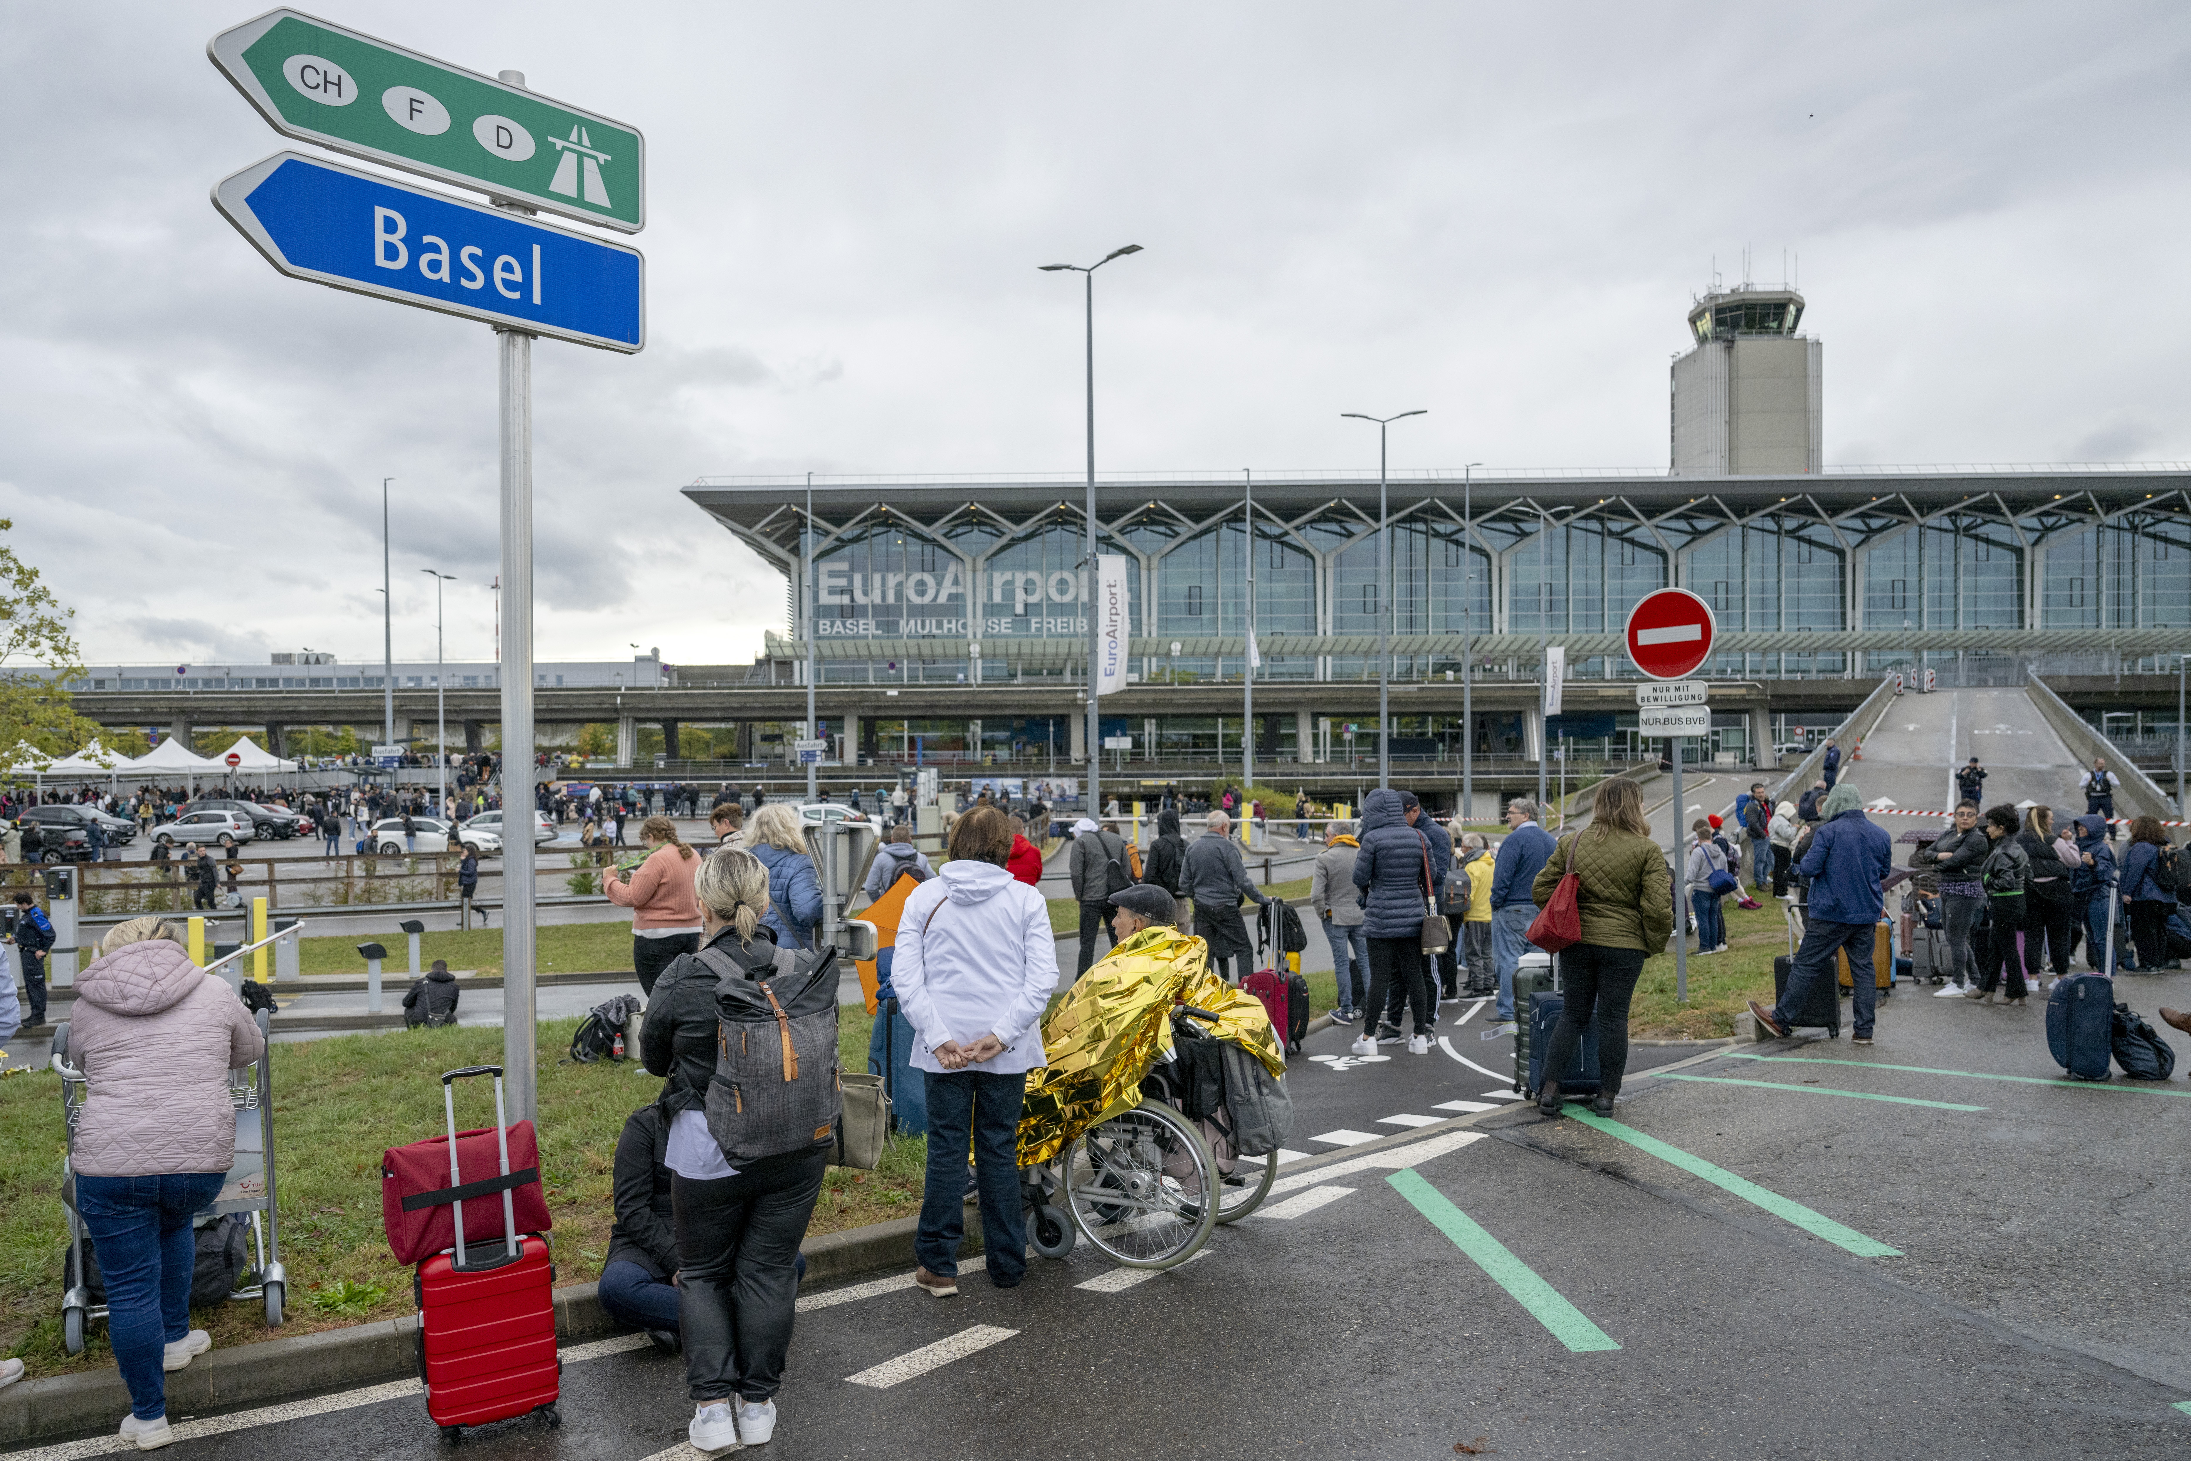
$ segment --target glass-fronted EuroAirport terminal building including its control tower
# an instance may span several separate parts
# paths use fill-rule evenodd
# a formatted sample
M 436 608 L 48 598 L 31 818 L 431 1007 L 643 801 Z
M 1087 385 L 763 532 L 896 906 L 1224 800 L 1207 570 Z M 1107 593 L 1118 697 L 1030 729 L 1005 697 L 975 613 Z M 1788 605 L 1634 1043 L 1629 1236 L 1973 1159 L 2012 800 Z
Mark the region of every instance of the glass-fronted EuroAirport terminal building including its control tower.
M 1707 672 L 1766 688 L 1906 664 L 1943 683 L 2152 672 L 2191 644 L 2191 467 L 1825 467 L 1823 346 L 1801 315 L 1792 289 L 1696 302 L 1663 473 L 1391 473 L 1389 567 L 1374 471 L 1100 478 L 1102 552 L 1131 565 L 1133 681 L 1238 686 L 1251 602 L 1255 681 L 1286 686 L 1273 701 L 1367 681 L 1374 718 L 1387 611 L 1398 683 L 1442 690 L 1464 664 L 1483 688 L 1534 681 L 1547 642 L 1575 681 L 1634 679 L 1621 622 L 1663 585 L 1713 607 Z M 787 633 L 756 666 L 771 683 L 804 681 L 808 640 L 822 690 L 1085 683 L 1082 478 L 817 475 L 811 515 L 806 478 L 703 478 L 686 497 L 784 572 Z M 1120 710 L 1117 734 L 1152 747 L 1203 738 Z M 1312 738 L 1321 758 L 1323 718 L 1273 716 L 1258 745 L 1290 760 Z M 1762 721 L 1729 721 L 1709 751 L 1764 749 Z M 1078 725 L 1025 729 L 1060 753 L 1071 732 L 1078 756 Z M 1464 732 L 1411 710 L 1393 734 Z M 1475 725 L 1490 753 L 1540 753 L 1542 734 L 1525 708 Z

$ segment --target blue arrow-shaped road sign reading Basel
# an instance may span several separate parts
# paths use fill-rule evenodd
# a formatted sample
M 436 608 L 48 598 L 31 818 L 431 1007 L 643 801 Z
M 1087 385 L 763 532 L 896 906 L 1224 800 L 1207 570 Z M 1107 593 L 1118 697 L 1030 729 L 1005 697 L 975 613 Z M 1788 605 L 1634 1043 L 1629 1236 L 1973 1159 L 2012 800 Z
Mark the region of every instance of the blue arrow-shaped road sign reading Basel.
M 291 278 L 603 350 L 646 344 L 646 261 L 624 243 L 298 153 L 223 177 L 213 206 Z

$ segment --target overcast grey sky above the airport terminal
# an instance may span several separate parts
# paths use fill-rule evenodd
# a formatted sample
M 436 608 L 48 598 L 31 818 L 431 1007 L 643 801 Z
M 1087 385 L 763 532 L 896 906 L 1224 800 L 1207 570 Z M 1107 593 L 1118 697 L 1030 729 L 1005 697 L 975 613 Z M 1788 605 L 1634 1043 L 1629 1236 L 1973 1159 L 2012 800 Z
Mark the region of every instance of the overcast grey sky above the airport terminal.
M 90 662 L 493 655 L 486 326 L 283 278 L 239 4 L 0 4 L 0 515 Z M 734 662 L 699 475 L 1667 460 L 1713 272 L 1797 272 L 1825 458 L 2184 460 L 2180 4 L 399 4 L 646 131 L 649 346 L 535 346 L 539 657 Z M 309 151 L 309 149 L 307 149 Z

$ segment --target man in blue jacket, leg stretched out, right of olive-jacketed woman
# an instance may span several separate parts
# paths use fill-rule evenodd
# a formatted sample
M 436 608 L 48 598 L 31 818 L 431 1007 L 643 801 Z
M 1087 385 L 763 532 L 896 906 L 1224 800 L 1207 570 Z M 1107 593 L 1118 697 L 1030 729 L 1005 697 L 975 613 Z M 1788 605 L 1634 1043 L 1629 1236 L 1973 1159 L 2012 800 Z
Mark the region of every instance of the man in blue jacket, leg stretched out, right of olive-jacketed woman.
M 1797 865 L 1810 878 L 1810 918 L 1803 946 L 1794 953 L 1788 988 L 1779 1003 L 1766 1010 L 1755 999 L 1751 1014 L 1777 1036 L 1794 1027 L 1797 1016 L 1825 986 L 1834 994 L 1834 955 L 1847 951 L 1856 975 L 1856 1029 L 1851 1045 L 1871 1045 L 1873 1012 L 1880 1001 L 1871 977 L 1871 946 L 1884 896 L 1880 883 L 1895 867 L 1895 843 L 1884 828 L 1865 815 L 1865 797 L 1856 782 L 1840 782 L 1825 797 L 1825 824 L 1812 835 L 1810 852 Z

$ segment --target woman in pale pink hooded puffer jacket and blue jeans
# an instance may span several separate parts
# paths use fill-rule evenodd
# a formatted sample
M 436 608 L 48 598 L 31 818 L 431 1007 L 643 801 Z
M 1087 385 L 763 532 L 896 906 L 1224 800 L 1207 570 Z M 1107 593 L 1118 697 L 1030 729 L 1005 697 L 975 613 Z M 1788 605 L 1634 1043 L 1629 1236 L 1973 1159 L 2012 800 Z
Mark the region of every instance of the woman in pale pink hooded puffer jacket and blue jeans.
M 107 1336 L 129 1387 L 121 1435 L 138 1450 L 175 1439 L 167 1376 L 213 1341 L 191 1327 L 191 1216 L 234 1161 L 228 1071 L 265 1054 L 250 1010 L 191 964 L 173 924 L 131 918 L 77 979 L 68 1060 L 90 1093 L 77 1121 L 77 1211 L 107 1286 Z

